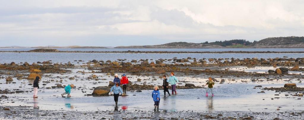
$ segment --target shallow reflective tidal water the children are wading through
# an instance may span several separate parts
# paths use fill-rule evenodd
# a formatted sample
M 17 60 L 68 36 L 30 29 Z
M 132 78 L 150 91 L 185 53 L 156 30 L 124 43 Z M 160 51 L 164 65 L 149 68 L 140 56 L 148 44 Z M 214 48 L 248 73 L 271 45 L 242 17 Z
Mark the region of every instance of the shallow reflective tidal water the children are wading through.
M 77 71 L 77 70 L 74 70 Z M 45 74 L 51 75 L 51 74 Z M 69 80 L 68 77 L 77 76 L 75 80 Z M 18 94 L 7 94 L 11 100 L 5 101 L 4 105 L 26 105 L 26 106 L 39 106 L 39 109 L 43 110 L 75 110 L 75 111 L 105 111 L 110 110 L 113 111 L 115 108 L 115 102 L 113 100 L 113 96 L 102 96 L 102 97 L 93 97 L 93 96 L 85 96 L 86 94 L 91 94 L 93 90 L 90 90 L 92 87 L 97 86 L 106 86 L 109 84 L 109 81 L 112 81 L 112 76 L 107 76 L 105 74 L 95 74 L 98 75 L 99 79 L 106 80 L 85 80 L 86 77 L 92 75 L 92 73 L 86 73 L 85 75 L 81 75 L 81 73 L 73 72 L 71 74 L 53 74 L 49 77 L 43 77 L 42 81 L 40 81 L 40 91 L 38 92 L 39 98 L 32 98 L 32 87 L 28 85 L 32 83 L 33 80 L 16 80 L 14 78 L 13 82 L 16 84 L 7 83 L 4 79 L 0 81 L 1 89 L 19 89 L 23 91 L 29 91 L 28 93 L 18 93 Z M 120 74 L 119 74 L 120 75 Z M 132 77 L 129 78 L 130 81 L 136 84 L 142 84 L 143 82 L 147 82 L 147 84 L 152 85 L 161 85 L 161 79 L 158 76 L 137 76 L 130 75 Z M 62 83 L 55 82 L 56 80 L 63 80 Z M 102 76 L 102 77 L 101 77 Z M 142 78 L 142 82 L 136 82 L 137 78 Z M 156 81 L 151 81 L 151 79 L 156 78 Z M 193 83 L 197 85 L 204 85 L 206 82 L 206 76 L 200 77 L 192 77 L 192 76 L 179 76 L 180 81 L 187 81 L 186 83 Z M 43 81 L 49 81 L 54 79 L 54 82 L 48 83 L 43 86 Z M 78 80 L 76 80 L 78 79 Z M 84 79 L 84 80 L 81 80 Z M 147 80 L 144 80 L 147 79 Z M 220 78 L 216 78 L 220 79 Z M 279 106 L 280 111 L 291 111 L 291 110 L 302 110 L 304 105 L 303 97 L 294 97 L 290 94 L 295 94 L 295 92 L 287 93 L 282 92 L 279 96 L 275 96 L 274 91 L 265 91 L 266 93 L 257 93 L 261 92 L 261 89 L 253 89 L 256 85 L 262 85 L 263 87 L 282 87 L 285 83 L 283 80 L 279 81 L 268 81 L 268 82 L 250 82 L 248 79 L 248 83 L 237 81 L 228 81 L 224 84 L 215 84 L 214 88 L 214 97 L 205 97 L 205 89 L 178 89 L 178 95 L 167 96 L 164 98 L 163 90 L 161 92 L 161 102 L 160 109 L 167 110 L 168 112 L 174 111 L 255 111 L 255 112 L 263 112 L 263 111 L 275 111 Z M 100 82 L 100 83 L 98 83 Z M 297 81 L 292 81 L 297 82 Z M 64 92 L 63 88 L 56 89 L 46 89 L 46 87 L 56 86 L 55 84 L 75 84 L 76 89 L 72 89 L 71 98 L 62 98 L 61 93 Z M 95 83 L 95 84 L 93 84 Z M 181 85 L 185 85 L 184 82 L 181 82 Z M 297 83 L 298 87 L 304 87 L 302 83 Z M 21 88 L 19 88 L 21 87 Z M 78 87 L 82 87 L 79 88 Z M 151 88 L 152 89 L 152 88 Z M 83 91 L 83 92 L 82 92 Z M 171 90 L 169 90 L 171 92 Z M 140 111 L 151 111 L 153 110 L 154 102 L 151 98 L 152 90 L 143 90 L 142 92 L 130 92 L 127 94 L 129 96 L 119 96 L 119 105 L 118 110 L 126 109 L 128 110 L 140 110 Z M 210 93 L 210 91 L 209 91 Z M 285 97 L 285 94 L 289 96 Z M 133 96 L 136 95 L 136 96 Z M 209 94 L 210 95 L 210 94 Z M 280 97 L 279 99 L 271 100 L 271 98 Z M 298 100 L 297 98 L 301 98 Z M 262 100 L 265 99 L 265 100 Z M 268 108 L 268 109 L 264 109 Z

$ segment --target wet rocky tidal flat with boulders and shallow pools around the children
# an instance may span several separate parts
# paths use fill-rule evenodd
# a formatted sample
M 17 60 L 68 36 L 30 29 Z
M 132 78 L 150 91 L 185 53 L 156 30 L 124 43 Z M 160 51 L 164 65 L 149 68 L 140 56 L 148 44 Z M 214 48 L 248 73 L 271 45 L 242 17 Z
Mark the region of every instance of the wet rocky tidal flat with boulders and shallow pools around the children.
M 59 54 L 59 53 L 54 53 Z M 0 64 L 2 119 L 302 119 L 303 58 L 163 58 L 117 60 L 43 60 Z M 278 72 L 279 71 L 281 72 Z M 274 72 L 273 72 L 274 71 Z M 174 72 L 178 95 L 166 97 L 162 75 Z M 108 89 L 114 74 L 126 74 L 127 96 L 93 96 Z M 38 98 L 33 76 L 40 75 Z M 206 97 L 206 81 L 215 81 Z M 295 87 L 285 87 L 294 83 Z M 74 84 L 71 98 L 61 97 Z M 151 93 L 160 87 L 159 112 Z M 169 86 L 169 89 L 171 86 Z M 171 90 L 169 90 L 171 93 Z M 58 114 L 57 114 L 58 113 Z M 22 116 L 21 116 L 22 115 Z

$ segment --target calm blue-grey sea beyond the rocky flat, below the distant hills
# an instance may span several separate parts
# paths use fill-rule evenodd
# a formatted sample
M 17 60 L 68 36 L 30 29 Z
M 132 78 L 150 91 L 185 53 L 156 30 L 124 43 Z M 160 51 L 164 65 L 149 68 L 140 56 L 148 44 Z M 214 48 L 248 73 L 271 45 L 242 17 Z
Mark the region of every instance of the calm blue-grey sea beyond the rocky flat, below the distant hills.
M 34 48 L 0 48 L 0 51 L 28 51 Z M 59 48 L 61 51 L 303 51 L 304 48 L 231 48 L 231 49 L 73 49 L 73 48 Z M 126 59 L 131 61 L 133 59 L 172 59 L 177 58 L 282 58 L 287 56 L 289 58 L 303 58 L 304 53 L 284 53 L 284 54 L 260 54 L 260 53 L 170 53 L 170 54 L 159 54 L 159 53 L 36 53 L 36 52 L 0 52 L 0 63 L 20 63 L 20 62 L 43 62 L 52 60 L 53 63 L 67 63 L 73 62 L 74 60 L 82 60 L 88 62 L 90 60 L 111 60 Z

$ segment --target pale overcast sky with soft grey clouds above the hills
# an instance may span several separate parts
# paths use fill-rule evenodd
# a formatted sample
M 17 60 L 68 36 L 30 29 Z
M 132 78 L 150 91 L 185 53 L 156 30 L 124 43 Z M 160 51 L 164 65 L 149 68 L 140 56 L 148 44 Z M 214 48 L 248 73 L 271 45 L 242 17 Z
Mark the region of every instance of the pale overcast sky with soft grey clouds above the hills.
M 0 0 L 0 46 L 121 46 L 304 36 L 302 0 Z

